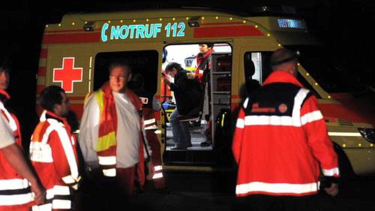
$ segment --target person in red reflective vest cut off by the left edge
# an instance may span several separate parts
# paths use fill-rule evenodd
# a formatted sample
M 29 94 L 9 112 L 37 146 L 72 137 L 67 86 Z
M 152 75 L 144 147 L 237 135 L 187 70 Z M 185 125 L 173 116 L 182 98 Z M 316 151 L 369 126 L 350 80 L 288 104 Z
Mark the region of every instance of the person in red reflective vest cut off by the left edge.
M 28 211 L 44 201 L 45 190 L 24 157 L 18 119 L 4 106 L 8 85 L 9 69 L 0 66 L 0 211 Z

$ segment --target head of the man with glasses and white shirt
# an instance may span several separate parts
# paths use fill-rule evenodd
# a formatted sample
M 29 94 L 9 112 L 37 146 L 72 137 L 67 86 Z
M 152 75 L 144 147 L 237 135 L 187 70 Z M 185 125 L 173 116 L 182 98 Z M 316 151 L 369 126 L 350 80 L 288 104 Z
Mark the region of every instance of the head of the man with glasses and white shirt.
M 127 82 L 132 78 L 130 66 L 125 61 L 118 60 L 111 63 L 109 72 L 112 91 L 124 93 Z

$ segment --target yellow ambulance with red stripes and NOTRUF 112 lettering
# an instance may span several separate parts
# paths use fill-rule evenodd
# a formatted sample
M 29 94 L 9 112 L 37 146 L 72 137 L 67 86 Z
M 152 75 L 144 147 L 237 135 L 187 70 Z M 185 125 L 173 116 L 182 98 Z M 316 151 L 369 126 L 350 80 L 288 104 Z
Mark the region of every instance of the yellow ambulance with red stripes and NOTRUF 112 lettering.
M 193 146 L 173 150 L 166 114 L 175 102 L 173 94 L 168 94 L 168 88 L 163 87 L 160 75 L 169 62 L 178 62 L 194 71 L 185 59 L 194 59 L 200 43 L 214 44 L 210 83 L 207 83 L 201 115 L 189 121 Z M 270 54 L 280 47 L 300 54 L 299 80 L 318 97 L 342 172 L 374 173 L 374 119 L 340 102 L 348 93 L 329 93 L 314 79 L 317 69 L 323 66 L 317 61 L 323 57 L 321 45 L 309 33 L 302 18 L 251 17 L 214 9 L 67 14 L 60 23 L 45 26 L 37 97 L 46 86 L 61 86 L 79 124 L 86 94 L 108 80 L 111 60 L 126 59 L 133 72 L 144 76 L 145 89 L 163 104 L 164 109 L 156 117 L 163 169 L 210 171 L 231 167 L 233 123 L 228 114 L 241 102 L 247 82 L 261 84 L 265 80 L 270 73 Z M 40 104 L 36 103 L 40 114 Z M 212 139 L 212 144 L 201 146 L 207 139 Z

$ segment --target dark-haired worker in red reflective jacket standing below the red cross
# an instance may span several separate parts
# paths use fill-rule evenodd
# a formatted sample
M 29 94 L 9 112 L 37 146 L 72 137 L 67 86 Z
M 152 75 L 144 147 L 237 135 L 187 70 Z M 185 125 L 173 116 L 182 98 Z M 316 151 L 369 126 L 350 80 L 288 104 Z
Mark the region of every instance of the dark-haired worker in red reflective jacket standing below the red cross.
M 45 109 L 30 142 L 30 159 L 46 188 L 46 203 L 33 211 L 72 210 L 73 195 L 80 181 L 77 140 L 64 118 L 69 100 L 59 86 L 48 86 L 40 94 Z

